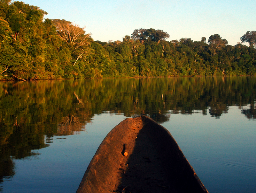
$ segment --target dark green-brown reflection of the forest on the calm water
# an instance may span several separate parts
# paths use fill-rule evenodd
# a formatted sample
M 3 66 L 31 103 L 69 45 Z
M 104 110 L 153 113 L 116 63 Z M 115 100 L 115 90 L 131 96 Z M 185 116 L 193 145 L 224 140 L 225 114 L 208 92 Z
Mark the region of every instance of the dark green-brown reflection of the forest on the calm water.
M 46 80 L 0 87 L 0 183 L 14 175 L 12 159 L 34 155 L 54 135 L 84 131 L 95 114 L 146 114 L 163 123 L 170 113 L 209 110 L 220 118 L 238 106 L 248 119 L 256 118 L 256 77 Z

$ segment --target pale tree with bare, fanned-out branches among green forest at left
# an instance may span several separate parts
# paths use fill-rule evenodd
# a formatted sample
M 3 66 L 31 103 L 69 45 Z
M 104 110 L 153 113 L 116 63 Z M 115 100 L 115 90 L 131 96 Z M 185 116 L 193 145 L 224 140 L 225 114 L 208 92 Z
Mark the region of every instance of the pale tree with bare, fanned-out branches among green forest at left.
M 58 36 L 69 45 L 73 53 L 77 56 L 73 64 L 74 66 L 77 60 L 89 54 L 90 34 L 85 34 L 85 27 L 81 28 L 78 24 L 71 23 L 64 19 L 54 19 L 53 24 L 56 26 Z

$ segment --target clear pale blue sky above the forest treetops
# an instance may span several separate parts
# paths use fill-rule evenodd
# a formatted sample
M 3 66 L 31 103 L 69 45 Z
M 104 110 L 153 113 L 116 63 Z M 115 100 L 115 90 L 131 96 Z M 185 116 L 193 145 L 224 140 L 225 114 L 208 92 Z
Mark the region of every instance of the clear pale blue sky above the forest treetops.
M 256 31 L 256 0 L 24 0 L 46 11 L 45 18 L 86 26 L 93 40 L 122 40 L 135 29 L 166 31 L 173 39 L 206 41 L 219 34 L 236 45 Z

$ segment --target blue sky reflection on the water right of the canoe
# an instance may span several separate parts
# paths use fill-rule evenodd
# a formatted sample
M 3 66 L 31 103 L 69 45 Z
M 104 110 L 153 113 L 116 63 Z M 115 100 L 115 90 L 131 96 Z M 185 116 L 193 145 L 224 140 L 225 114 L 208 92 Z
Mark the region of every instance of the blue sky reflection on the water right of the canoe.
M 229 107 L 219 119 L 171 114 L 166 127 L 209 192 L 256 190 L 256 121 Z

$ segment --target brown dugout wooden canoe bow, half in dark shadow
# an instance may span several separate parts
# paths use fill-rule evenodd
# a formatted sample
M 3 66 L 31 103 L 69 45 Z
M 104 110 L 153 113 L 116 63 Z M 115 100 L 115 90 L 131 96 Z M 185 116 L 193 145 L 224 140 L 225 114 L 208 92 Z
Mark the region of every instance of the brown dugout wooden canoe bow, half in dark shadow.
M 125 119 L 109 132 L 77 190 L 104 192 L 208 191 L 170 132 L 151 118 L 141 116 Z

